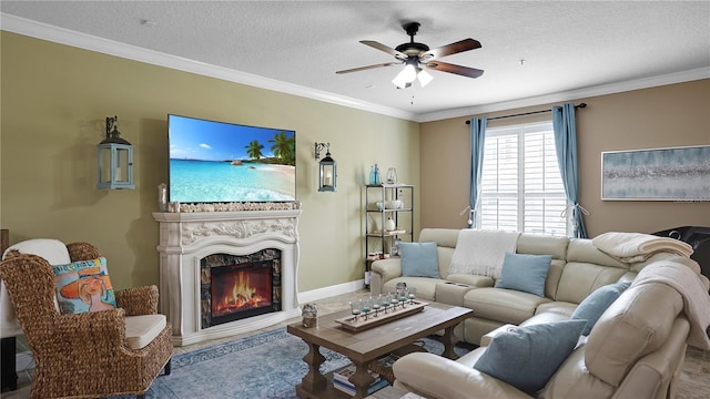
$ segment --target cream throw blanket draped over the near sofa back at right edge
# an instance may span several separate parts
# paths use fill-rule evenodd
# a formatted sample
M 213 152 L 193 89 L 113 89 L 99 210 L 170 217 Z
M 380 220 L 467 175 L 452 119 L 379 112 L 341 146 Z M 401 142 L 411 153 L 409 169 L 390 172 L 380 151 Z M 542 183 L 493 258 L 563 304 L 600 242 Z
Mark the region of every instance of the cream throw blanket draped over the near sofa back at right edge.
M 700 279 L 699 268 L 689 267 L 684 264 L 686 259 L 680 260 L 682 262 L 673 259 L 653 262 L 639 272 L 631 287 L 650 283 L 673 287 L 683 297 L 684 313 L 690 321 L 688 345 L 708 350 L 710 349 L 710 337 L 708 337 L 710 295 Z

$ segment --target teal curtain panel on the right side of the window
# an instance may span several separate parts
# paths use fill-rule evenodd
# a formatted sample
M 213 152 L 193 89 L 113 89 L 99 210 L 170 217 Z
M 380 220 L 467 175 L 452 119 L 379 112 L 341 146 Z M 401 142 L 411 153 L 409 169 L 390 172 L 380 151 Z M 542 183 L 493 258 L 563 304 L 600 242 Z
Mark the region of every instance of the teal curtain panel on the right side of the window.
M 589 213 L 579 205 L 578 202 L 579 168 L 577 165 L 577 125 L 574 104 L 567 103 L 562 106 L 552 106 L 552 129 L 555 130 L 557 163 L 562 174 L 562 183 L 565 184 L 565 193 L 567 194 L 567 209 L 565 214 L 571 217 L 572 237 L 587 238 L 584 215 L 588 215 Z

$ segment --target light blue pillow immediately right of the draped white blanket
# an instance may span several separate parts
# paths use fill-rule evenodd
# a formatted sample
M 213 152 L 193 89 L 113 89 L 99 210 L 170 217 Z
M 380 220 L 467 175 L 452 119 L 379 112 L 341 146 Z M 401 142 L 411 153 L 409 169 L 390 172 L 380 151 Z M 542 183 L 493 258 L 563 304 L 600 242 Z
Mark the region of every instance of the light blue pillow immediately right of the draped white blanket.
M 506 253 L 496 288 L 515 289 L 544 297 L 545 280 L 551 262 L 552 255 Z

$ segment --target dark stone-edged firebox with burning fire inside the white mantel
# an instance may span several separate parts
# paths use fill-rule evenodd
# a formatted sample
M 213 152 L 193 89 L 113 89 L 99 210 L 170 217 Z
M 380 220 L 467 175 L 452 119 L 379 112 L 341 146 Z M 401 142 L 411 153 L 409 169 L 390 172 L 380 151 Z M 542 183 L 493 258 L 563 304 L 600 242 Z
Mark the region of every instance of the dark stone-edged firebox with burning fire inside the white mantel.
M 201 259 L 202 328 L 281 310 L 281 250 Z

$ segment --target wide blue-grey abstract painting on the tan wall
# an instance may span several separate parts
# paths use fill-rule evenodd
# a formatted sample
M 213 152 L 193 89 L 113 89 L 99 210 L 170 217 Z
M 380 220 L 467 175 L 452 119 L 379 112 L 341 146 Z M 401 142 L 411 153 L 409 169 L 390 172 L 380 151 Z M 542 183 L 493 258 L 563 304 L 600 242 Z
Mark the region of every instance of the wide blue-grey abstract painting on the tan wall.
M 601 200 L 710 201 L 710 145 L 602 152 Z

